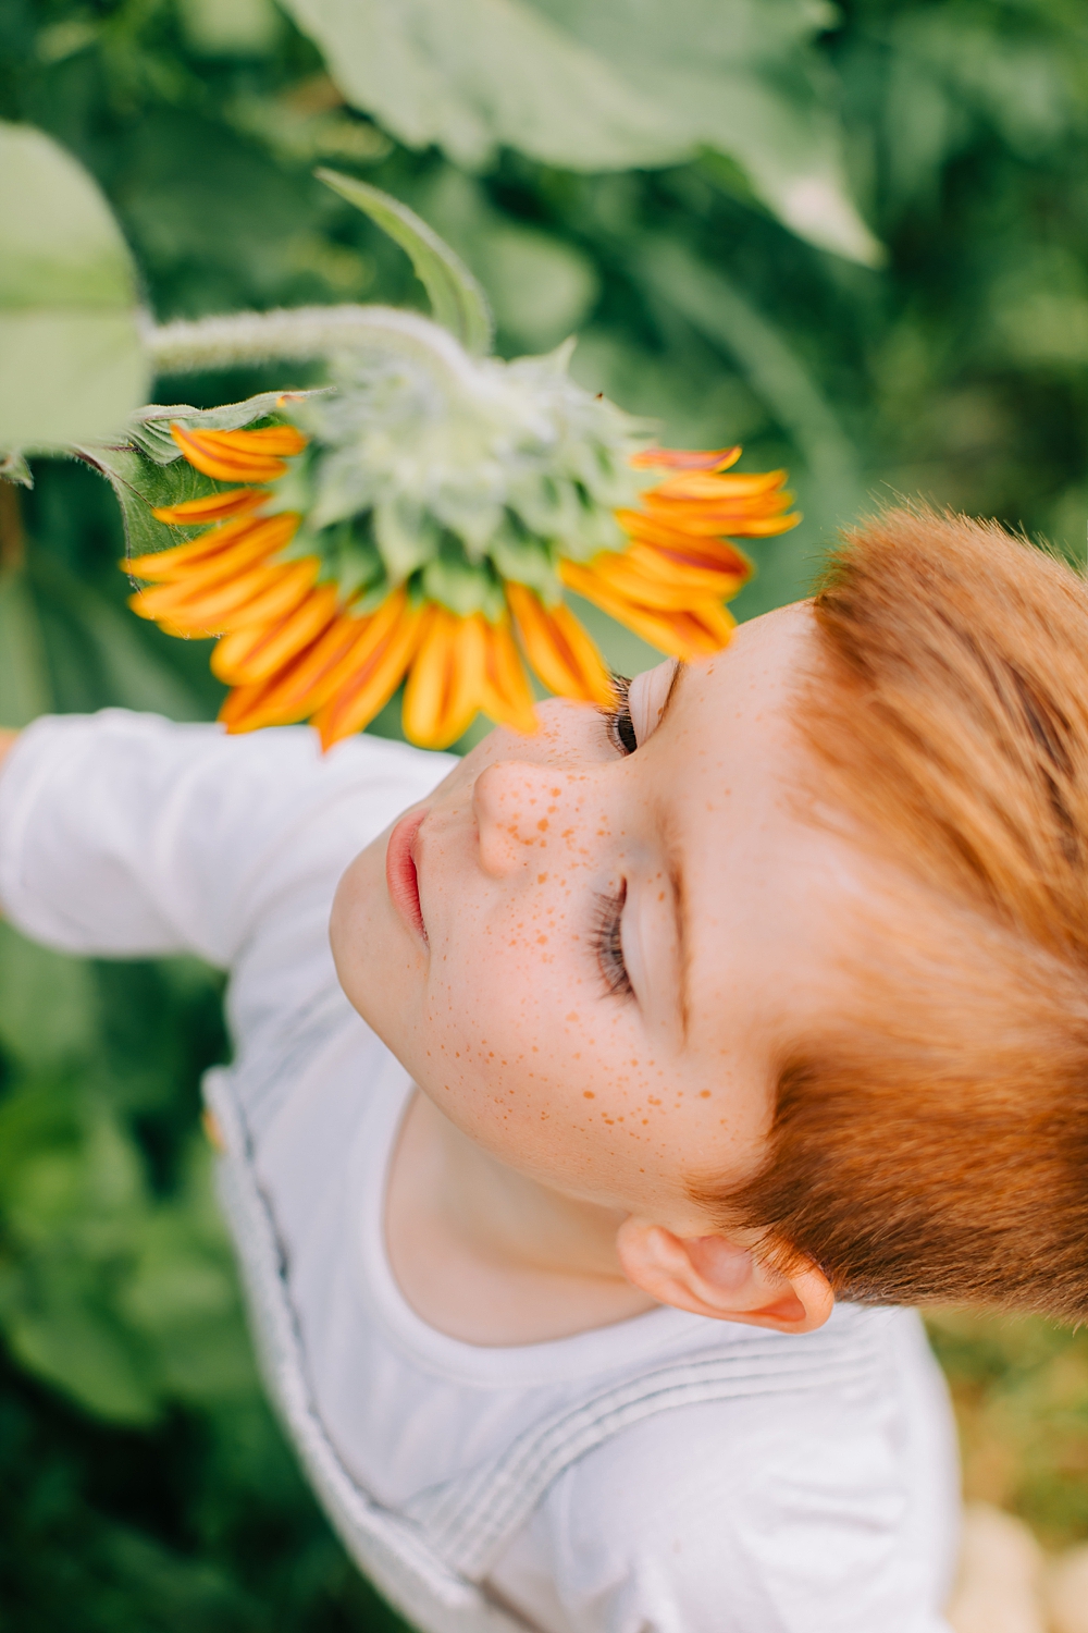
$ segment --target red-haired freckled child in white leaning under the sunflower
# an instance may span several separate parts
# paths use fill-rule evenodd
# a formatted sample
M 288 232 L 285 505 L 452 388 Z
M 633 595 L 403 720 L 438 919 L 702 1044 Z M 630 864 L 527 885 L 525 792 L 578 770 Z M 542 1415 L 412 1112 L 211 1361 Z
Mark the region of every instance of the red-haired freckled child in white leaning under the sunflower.
M 1086 655 L 1073 573 L 900 511 L 460 763 L 20 740 L 11 919 L 232 972 L 269 1388 L 419 1626 L 944 1626 L 953 1432 L 891 1306 L 1088 1310 Z

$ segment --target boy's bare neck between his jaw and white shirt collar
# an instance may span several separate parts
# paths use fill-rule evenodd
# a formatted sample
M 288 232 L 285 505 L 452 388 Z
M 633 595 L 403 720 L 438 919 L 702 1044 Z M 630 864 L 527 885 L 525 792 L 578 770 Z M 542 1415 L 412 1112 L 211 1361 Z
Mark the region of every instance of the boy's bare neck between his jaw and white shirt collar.
M 470 1344 L 538 1344 L 654 1308 L 623 1277 L 625 1215 L 499 1163 L 416 1094 L 393 1156 L 387 1238 L 413 1310 Z

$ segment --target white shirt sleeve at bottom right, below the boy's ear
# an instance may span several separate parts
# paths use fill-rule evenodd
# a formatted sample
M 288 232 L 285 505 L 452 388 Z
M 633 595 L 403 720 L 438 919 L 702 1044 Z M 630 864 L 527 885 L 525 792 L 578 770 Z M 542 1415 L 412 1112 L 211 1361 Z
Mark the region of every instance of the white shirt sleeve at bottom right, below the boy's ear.
M 545 1633 L 951 1633 L 958 1499 L 848 1403 L 679 1408 L 573 1465 L 491 1573 Z M 927 1548 L 928 1501 L 949 1550 Z M 930 1514 L 930 1520 L 933 1515 Z

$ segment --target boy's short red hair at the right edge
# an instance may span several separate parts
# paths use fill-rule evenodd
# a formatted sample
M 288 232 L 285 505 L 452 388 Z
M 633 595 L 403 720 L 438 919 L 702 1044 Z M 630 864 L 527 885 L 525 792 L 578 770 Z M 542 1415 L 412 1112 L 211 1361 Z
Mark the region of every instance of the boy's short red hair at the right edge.
M 799 701 L 822 797 L 910 901 L 783 1060 L 757 1226 L 861 1302 L 1088 1316 L 1088 585 L 995 523 L 847 536 Z M 913 911 L 912 911 L 913 903 Z

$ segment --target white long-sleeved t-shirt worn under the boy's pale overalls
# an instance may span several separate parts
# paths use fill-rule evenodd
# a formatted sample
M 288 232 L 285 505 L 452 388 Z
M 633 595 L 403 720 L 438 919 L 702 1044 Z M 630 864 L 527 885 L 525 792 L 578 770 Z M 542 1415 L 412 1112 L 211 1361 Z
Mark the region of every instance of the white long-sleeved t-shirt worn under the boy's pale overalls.
M 328 914 L 347 862 L 450 761 L 307 728 L 228 738 L 106 710 L 46 719 L 0 779 L 0 900 L 70 952 L 228 968 L 232 1075 L 282 1248 L 312 1396 L 393 1512 L 529 1424 L 747 1328 L 662 1308 L 550 1344 L 429 1328 L 383 1238 L 411 1083 L 341 993 Z M 943 1380 L 910 1311 L 837 1311 L 889 1355 L 835 1386 L 677 1406 L 568 1466 L 488 1569 L 543 1633 L 941 1633 L 958 1540 Z M 426 1501 L 426 1499 L 424 1499 Z

